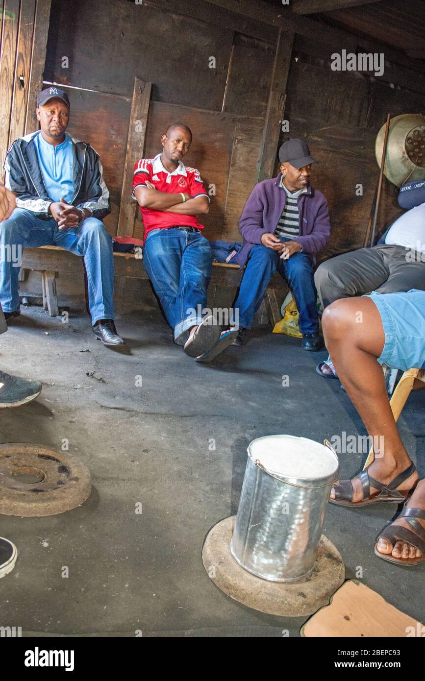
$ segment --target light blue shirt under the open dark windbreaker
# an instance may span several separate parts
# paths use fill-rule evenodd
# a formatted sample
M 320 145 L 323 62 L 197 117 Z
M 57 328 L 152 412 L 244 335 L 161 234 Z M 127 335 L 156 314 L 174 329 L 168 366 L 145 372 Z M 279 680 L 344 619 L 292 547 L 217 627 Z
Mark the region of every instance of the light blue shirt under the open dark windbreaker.
M 50 199 L 57 202 L 63 197 L 67 203 L 71 203 L 74 197 L 72 185 L 72 140 L 65 133 L 62 144 L 49 144 L 42 133 L 34 138 L 34 146 L 37 151 L 38 165 L 44 186 Z

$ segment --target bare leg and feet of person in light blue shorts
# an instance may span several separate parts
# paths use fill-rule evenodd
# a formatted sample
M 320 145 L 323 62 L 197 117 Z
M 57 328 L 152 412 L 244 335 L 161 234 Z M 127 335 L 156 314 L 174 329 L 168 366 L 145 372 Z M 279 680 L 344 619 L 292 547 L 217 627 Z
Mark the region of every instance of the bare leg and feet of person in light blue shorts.
M 326 347 L 339 379 L 360 414 L 368 434 L 374 443 L 383 438 L 384 451 L 379 452 L 380 456 L 369 466 L 369 472 L 375 479 L 388 484 L 409 467 L 411 460 L 398 434 L 385 391 L 383 371 L 377 362 L 385 343 L 381 315 L 371 298 L 344 298 L 336 300 L 326 308 L 322 325 Z M 407 492 L 417 480 L 418 473 L 415 472 L 403 482 L 398 491 Z M 360 480 L 353 478 L 352 484 L 353 502 L 361 501 L 363 492 Z M 377 490 L 371 488 L 371 494 L 374 492 Z M 422 496 L 422 505 L 416 507 L 425 508 L 425 494 L 420 494 L 418 489 L 416 496 Z M 331 498 L 334 498 L 334 490 L 331 492 Z M 420 504 L 420 498 L 415 500 L 415 503 Z M 408 505 L 413 505 L 413 497 Z M 396 522 L 409 528 L 403 520 Z M 410 549 L 416 555 L 416 549 L 403 541 L 397 542 L 394 549 L 385 539 L 381 539 L 378 545 L 379 551 L 392 552 L 396 558 L 415 557 L 410 556 Z M 418 552 L 418 556 L 420 555 Z

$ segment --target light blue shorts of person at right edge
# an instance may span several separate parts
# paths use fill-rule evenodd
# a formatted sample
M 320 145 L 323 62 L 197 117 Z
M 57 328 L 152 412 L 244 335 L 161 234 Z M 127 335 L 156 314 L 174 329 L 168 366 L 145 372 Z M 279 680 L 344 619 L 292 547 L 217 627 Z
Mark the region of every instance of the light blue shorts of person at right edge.
M 394 369 L 425 368 L 425 291 L 411 289 L 371 298 L 378 308 L 385 332 L 385 345 L 379 364 Z

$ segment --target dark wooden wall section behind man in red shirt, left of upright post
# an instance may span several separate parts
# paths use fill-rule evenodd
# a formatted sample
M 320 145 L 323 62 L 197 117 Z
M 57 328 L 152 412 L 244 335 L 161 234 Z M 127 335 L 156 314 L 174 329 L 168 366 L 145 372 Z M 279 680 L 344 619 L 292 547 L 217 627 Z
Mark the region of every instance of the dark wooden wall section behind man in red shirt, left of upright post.
M 145 155 L 153 157 L 161 151 L 161 136 L 170 123 L 189 125 L 193 143 L 185 163 L 199 168 L 213 193 L 210 212 L 202 218 L 206 237 L 240 239 L 238 218 L 254 184 L 276 32 L 266 32 L 268 42 L 198 18 L 120 0 L 104 0 L 101 16 L 97 10 L 96 3 L 76 0 L 75 30 L 59 39 L 57 26 L 66 22 L 69 9 L 53 0 L 45 78 L 100 91 L 69 90 L 69 131 L 86 138 L 101 154 L 113 204 L 113 215 L 106 221 L 110 233 L 116 234 L 116 189 L 124 166 L 116 144 L 125 151 L 127 101 L 137 76 L 153 83 Z M 69 69 L 61 67 L 63 55 L 69 57 Z M 210 57 L 215 68 L 209 67 Z M 142 223 L 136 221 L 134 236 L 141 233 Z

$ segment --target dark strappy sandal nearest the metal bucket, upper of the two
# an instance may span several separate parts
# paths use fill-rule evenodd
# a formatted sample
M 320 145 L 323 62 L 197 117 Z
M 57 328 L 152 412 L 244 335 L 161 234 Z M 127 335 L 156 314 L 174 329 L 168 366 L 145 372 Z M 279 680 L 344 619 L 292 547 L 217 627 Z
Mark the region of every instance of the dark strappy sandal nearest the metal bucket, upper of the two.
M 410 498 L 411 494 L 413 494 L 414 488 L 409 490 L 406 495 L 397 492 L 396 487 L 400 486 L 403 481 L 407 480 L 415 472 L 415 470 L 415 464 L 411 463 L 409 468 L 403 471 L 403 473 L 397 475 L 397 477 L 395 477 L 394 480 L 391 480 L 388 485 L 384 485 L 382 482 L 379 482 L 379 480 L 375 480 L 375 478 L 371 477 L 371 475 L 368 474 L 368 469 L 366 469 L 366 471 L 362 471 L 362 473 L 359 473 L 359 475 L 354 476 L 357 477 L 362 483 L 362 501 L 357 501 L 356 503 L 353 502 L 354 490 L 351 480 L 341 480 L 341 482 L 335 484 L 335 498 L 330 499 L 329 501 L 331 504 L 335 504 L 336 506 L 351 506 L 352 508 L 358 506 L 368 506 L 375 504 L 378 501 L 390 501 L 392 503 L 399 504 L 402 501 L 407 501 L 407 499 Z M 379 490 L 379 493 L 374 494 L 372 497 L 371 487 L 375 487 L 376 490 Z

